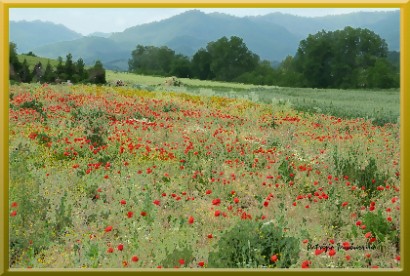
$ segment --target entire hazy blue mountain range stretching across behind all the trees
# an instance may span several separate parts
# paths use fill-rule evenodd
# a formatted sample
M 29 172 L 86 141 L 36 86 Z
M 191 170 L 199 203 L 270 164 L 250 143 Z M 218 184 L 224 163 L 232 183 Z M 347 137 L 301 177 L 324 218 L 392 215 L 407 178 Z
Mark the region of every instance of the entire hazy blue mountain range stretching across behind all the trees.
M 323 17 L 301 17 L 282 13 L 235 17 L 191 10 L 158 22 L 137 25 L 118 33 L 82 36 L 63 25 L 41 21 L 10 22 L 10 41 L 19 53 L 29 51 L 48 58 L 82 57 L 87 64 L 101 60 L 107 69 L 127 70 L 136 45 L 168 46 L 192 56 L 208 42 L 223 36 L 238 36 L 261 59 L 282 61 L 294 55 L 299 42 L 318 31 L 346 26 L 368 28 L 386 40 L 391 51 L 400 49 L 400 11 L 357 12 Z

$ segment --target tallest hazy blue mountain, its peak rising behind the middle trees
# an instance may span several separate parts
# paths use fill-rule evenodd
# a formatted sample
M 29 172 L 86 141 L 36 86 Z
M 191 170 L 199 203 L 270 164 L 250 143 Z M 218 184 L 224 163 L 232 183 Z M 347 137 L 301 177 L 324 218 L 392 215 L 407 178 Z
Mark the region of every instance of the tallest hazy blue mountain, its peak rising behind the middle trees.
M 299 37 L 284 27 L 221 13 L 188 11 L 159 22 L 135 26 L 110 39 L 129 49 L 136 44 L 166 45 L 176 52 L 193 55 L 210 41 L 223 36 L 243 38 L 248 48 L 262 59 L 277 60 L 297 48 Z

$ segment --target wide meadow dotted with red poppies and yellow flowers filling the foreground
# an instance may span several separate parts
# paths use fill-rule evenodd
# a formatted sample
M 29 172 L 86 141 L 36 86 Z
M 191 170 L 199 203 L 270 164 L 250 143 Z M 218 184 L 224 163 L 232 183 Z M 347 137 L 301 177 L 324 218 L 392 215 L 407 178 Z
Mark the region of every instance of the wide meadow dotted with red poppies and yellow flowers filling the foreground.
M 140 85 L 10 87 L 11 268 L 400 268 L 397 91 L 377 124 Z

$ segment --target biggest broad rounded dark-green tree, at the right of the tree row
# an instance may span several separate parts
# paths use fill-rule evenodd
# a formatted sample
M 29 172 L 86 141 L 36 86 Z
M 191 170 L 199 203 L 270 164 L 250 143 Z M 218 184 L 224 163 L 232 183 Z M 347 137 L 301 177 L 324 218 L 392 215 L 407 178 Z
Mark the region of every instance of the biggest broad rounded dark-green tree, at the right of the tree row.
M 369 83 L 371 68 L 386 59 L 387 44 L 368 29 L 346 27 L 309 35 L 299 44 L 295 71 L 302 86 L 359 88 Z

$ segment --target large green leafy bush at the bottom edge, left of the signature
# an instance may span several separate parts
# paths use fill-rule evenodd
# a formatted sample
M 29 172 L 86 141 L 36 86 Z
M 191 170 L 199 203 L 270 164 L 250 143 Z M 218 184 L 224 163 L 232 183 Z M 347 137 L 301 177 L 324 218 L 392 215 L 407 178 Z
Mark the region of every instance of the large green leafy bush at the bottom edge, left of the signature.
M 289 268 L 296 263 L 299 241 L 273 223 L 241 220 L 225 232 L 209 255 L 212 268 Z M 278 256 L 277 262 L 270 260 Z

